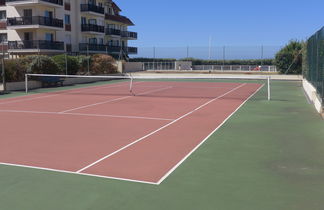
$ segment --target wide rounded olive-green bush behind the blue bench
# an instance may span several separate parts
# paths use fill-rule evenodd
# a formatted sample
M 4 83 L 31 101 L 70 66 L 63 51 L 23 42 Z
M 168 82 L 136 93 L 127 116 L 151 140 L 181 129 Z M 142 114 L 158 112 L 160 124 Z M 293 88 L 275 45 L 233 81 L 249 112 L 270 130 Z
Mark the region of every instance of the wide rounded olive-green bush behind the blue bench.
M 48 56 L 28 56 L 26 59 L 31 59 L 28 66 L 28 72 L 33 74 L 63 74 L 59 65 Z

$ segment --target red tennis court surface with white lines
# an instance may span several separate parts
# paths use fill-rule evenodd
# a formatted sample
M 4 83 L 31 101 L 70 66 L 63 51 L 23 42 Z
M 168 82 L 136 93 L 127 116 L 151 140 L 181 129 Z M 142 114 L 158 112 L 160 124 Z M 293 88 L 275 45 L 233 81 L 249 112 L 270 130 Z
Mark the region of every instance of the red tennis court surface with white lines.
M 0 99 L 0 164 L 160 184 L 261 84 L 137 82 Z

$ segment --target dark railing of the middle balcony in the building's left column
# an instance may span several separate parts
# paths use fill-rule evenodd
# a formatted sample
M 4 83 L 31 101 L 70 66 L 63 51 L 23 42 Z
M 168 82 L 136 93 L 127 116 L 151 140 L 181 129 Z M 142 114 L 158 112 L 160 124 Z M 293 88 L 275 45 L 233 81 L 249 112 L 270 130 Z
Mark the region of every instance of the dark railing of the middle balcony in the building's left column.
M 63 28 L 63 20 L 42 16 L 8 18 L 8 26 L 43 25 Z

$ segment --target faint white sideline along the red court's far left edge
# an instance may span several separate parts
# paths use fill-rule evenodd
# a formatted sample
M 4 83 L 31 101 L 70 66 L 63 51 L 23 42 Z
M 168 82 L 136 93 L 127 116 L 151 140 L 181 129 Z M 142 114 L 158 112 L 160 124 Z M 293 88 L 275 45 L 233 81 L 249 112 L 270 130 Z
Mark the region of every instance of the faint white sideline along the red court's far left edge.
M 91 89 L 89 89 L 90 87 L 83 87 L 83 88 L 77 88 L 77 89 L 71 89 L 71 90 L 54 91 L 54 92 L 48 92 L 48 93 L 60 93 L 60 94 L 51 94 L 51 95 L 45 95 L 45 96 L 39 96 L 39 97 L 33 97 L 33 98 L 27 98 L 27 99 L 5 101 L 5 102 L 0 102 L 0 105 L 23 102 L 23 101 L 32 101 L 32 100 L 40 99 L 40 98 L 50 98 L 50 97 L 54 97 L 54 96 L 60 96 L 61 93 L 78 93 L 78 92 L 81 92 L 80 89 L 84 89 L 84 88 L 88 89 L 88 90 L 85 90 L 85 91 L 90 91 L 90 90 L 95 90 L 95 89 L 106 89 L 106 88 L 122 87 L 122 86 L 126 86 L 126 85 L 128 85 L 128 84 L 120 84 L 120 85 L 114 85 L 114 86 L 106 84 L 107 87 L 93 87 Z M 39 93 L 39 94 L 45 94 L 45 93 Z M 38 95 L 38 94 L 32 94 L 32 95 L 27 95 L 27 96 L 35 96 L 35 95 Z M 25 97 L 25 96 L 21 96 L 21 97 Z M 6 98 L 6 99 L 8 99 L 8 98 Z

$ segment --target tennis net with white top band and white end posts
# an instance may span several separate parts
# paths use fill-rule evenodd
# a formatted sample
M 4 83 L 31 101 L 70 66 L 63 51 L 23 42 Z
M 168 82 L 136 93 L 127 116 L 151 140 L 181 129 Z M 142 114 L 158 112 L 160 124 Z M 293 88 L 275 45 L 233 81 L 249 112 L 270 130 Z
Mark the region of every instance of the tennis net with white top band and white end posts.
M 118 75 L 84 76 L 26 74 L 26 93 L 35 89 L 63 86 L 63 94 L 134 95 L 146 97 L 215 98 L 222 91 L 257 84 L 264 88 L 263 99 L 271 99 L 271 78 L 263 75 Z M 76 86 L 91 83 L 92 88 Z M 53 92 L 48 90 L 48 92 Z M 58 92 L 55 90 L 55 94 Z M 238 96 L 239 97 L 239 96 Z

